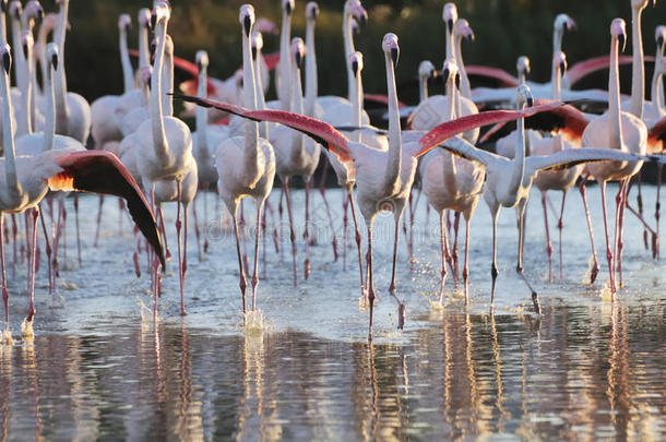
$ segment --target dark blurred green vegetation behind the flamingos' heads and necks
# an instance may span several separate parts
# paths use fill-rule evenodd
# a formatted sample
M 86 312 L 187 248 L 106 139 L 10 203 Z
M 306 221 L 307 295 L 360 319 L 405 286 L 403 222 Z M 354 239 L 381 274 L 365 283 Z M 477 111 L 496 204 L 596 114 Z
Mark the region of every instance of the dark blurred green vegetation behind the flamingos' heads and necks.
M 210 74 L 226 79 L 241 63 L 238 0 L 173 0 L 169 34 L 176 53 L 193 60 L 198 49 L 206 49 L 211 58 Z M 281 21 L 280 0 L 254 1 L 258 16 Z M 364 84 L 368 93 L 385 93 L 385 75 L 380 49 L 386 32 L 399 35 L 401 59 L 397 67 L 400 98 L 416 100 L 416 70 L 424 59 L 440 65 L 444 55 L 444 26 L 441 19 L 443 0 L 364 1 L 369 23 L 355 36 L 356 48 L 364 52 Z M 650 4 L 643 13 L 645 52 L 654 55 L 654 28 L 666 23 L 666 2 Z M 46 0 L 45 9 L 55 9 Z M 68 81 L 71 91 L 94 99 L 105 94 L 121 92 L 122 77 L 118 57 L 118 15 L 130 13 L 133 28 L 130 47 L 136 47 L 135 17 L 139 8 L 151 1 L 136 0 L 71 0 L 72 26 L 67 43 Z M 342 43 L 343 0 L 322 0 L 317 24 L 317 55 L 320 94 L 346 94 Z M 560 12 L 571 15 L 578 29 L 564 36 L 563 50 L 569 64 L 608 51 L 610 21 L 616 16 L 627 20 L 629 41 L 626 53 L 631 53 L 630 0 L 461 0 L 459 14 L 469 21 L 476 34 L 474 43 L 463 44 L 466 63 L 487 64 L 513 73 L 520 55 L 532 59 L 532 79 L 547 81 L 550 76 L 552 21 Z M 306 1 L 297 0 L 294 12 L 293 36 L 305 35 Z M 278 36 L 264 36 L 264 51 L 277 50 Z M 649 67 L 647 75 L 651 75 Z M 650 79 L 650 76 L 647 76 Z M 631 75 L 622 71 L 622 87 L 629 91 Z M 604 87 L 607 73 L 593 75 L 581 86 Z M 646 85 L 650 85 L 647 80 Z

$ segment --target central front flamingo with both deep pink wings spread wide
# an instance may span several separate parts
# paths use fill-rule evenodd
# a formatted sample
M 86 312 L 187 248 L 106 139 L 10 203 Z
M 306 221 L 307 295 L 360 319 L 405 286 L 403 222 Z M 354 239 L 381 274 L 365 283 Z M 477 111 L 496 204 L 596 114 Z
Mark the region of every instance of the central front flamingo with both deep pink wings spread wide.
M 372 226 L 377 214 L 381 211 L 393 212 L 395 219 L 395 241 L 393 244 L 393 272 L 390 292 L 399 302 L 399 327 L 404 326 L 405 307 L 395 294 L 395 264 L 397 253 L 397 234 L 400 217 L 405 207 L 414 176 L 417 158 L 435 148 L 443 141 L 460 132 L 465 132 L 484 124 L 512 121 L 520 117 L 530 117 L 538 112 L 560 107 L 560 104 L 548 103 L 527 110 L 496 110 L 462 117 L 449 123 L 442 123 L 423 135 L 418 141 L 402 143 L 400 131 L 400 114 L 395 91 L 394 65 L 400 49 L 397 36 L 389 33 L 382 40 L 386 64 L 386 83 L 389 96 L 389 151 L 377 151 L 362 143 L 349 141 L 342 132 L 331 124 L 307 116 L 282 110 L 249 110 L 228 103 L 202 99 L 195 96 L 179 95 L 189 103 L 235 114 L 254 121 L 273 121 L 298 130 L 322 146 L 333 151 L 344 164 L 349 174 L 355 171 L 358 184 L 358 203 L 368 228 L 368 300 L 370 306 L 370 322 L 368 338 L 372 338 L 372 312 L 374 286 L 372 277 Z M 625 158 L 625 157 L 622 157 Z M 633 157 L 632 157 L 633 158 Z

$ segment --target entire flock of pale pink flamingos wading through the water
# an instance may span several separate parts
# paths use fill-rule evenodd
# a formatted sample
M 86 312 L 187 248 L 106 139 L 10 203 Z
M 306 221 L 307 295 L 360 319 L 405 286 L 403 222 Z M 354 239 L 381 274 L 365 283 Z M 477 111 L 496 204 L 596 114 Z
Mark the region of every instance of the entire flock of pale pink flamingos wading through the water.
M 344 3 L 343 39 L 348 86 L 346 97 L 321 96 L 318 93 L 314 50 L 314 27 L 319 14 L 317 3 L 309 2 L 306 5 L 307 27 L 304 41 L 299 37 L 290 36 L 295 1 L 282 0 L 278 57 L 264 57 L 261 53 L 261 31 L 269 29 L 271 24 L 257 20 L 252 5 L 242 5 L 239 12 L 242 68 L 230 79 L 219 81 L 207 77 L 209 56 L 204 50 L 197 53 L 195 65 L 175 57 L 174 40 L 167 33 L 171 15 L 170 4 L 166 0 L 155 0 L 152 10 L 139 11 L 138 52 L 128 49 L 130 16 L 123 14 L 118 21 L 123 94 L 104 96 L 92 105 L 81 95 L 67 89 L 63 52 L 69 0 L 57 0 L 59 11 L 48 14 L 45 14 L 36 0 L 27 1 L 25 7 L 22 7 L 20 1 L 8 3 L 2 0 L 0 130 L 4 151 L 1 162 L 4 167 L 0 167 L 0 263 L 5 311 L 2 342 L 12 342 L 4 264 L 4 244 L 10 243 L 10 238 L 7 238 L 9 229 L 5 231 L 3 226 L 4 214 L 12 214 L 14 248 L 19 241 L 14 214 L 26 214 L 26 238 L 32 241 L 28 248 L 31 300 L 22 330 L 24 335 L 29 335 L 33 333 L 32 322 L 35 315 L 35 262 L 39 254 L 36 238 L 43 200 L 47 200 L 45 204 L 53 226 L 49 235 L 41 218 L 49 262 L 49 287 L 52 288 L 58 273 L 57 248 L 61 241 L 66 217 L 64 192 L 74 190 L 100 193 L 97 223 L 100 219 L 104 194 L 121 196 L 120 208 L 123 210 L 127 204 L 138 230 L 143 234 L 148 246 L 145 247 L 145 252 L 154 295 L 153 315 L 156 319 L 157 296 L 162 290 L 160 271 L 169 259 L 168 249 L 165 253 L 163 248 L 163 239 L 166 242 L 166 236 L 162 205 L 168 202 L 176 202 L 178 205 L 176 230 L 180 311 L 186 314 L 188 207 L 198 193 L 216 190 L 234 224 L 242 312 L 247 318 L 258 312 L 259 243 L 262 229 L 266 229 L 263 208 L 273 190 L 275 175 L 282 183 L 280 204 L 282 207 L 283 200 L 286 202 L 290 225 L 295 286 L 298 284 L 297 238 L 289 184 L 295 176 L 301 177 L 306 184 L 304 276 L 308 278 L 310 275 L 309 191 L 320 160 L 329 162 L 337 182 L 344 189 L 345 224 L 347 210 L 350 208 L 352 212 L 356 230 L 360 296 L 369 310 L 369 338 L 372 336 L 376 299 L 372 228 L 378 213 L 382 211 L 392 212 L 395 222 L 389 292 L 397 302 L 397 326 L 402 328 L 404 325 L 405 304 L 399 297 L 396 287 L 397 243 L 403 213 L 407 207 L 409 212 L 413 211 L 413 190 L 425 194 L 429 206 L 439 214 L 440 303 L 443 300 L 449 272 L 453 272 L 455 278 L 459 274 L 457 252 L 456 248 L 452 247 L 451 236 L 457 238 L 461 214 L 465 220 L 462 277 L 467 302 L 469 219 L 483 195 L 491 214 L 493 234 L 490 306 L 493 304 L 498 276 L 499 211 L 501 207 L 515 207 L 519 229 L 516 272 L 530 290 L 535 312 L 540 313 L 537 292 L 523 273 L 524 216 L 531 188 L 535 184 L 543 194 L 547 235 L 546 192 L 562 191 L 558 223 L 561 276 L 562 213 L 567 192 L 578 183 L 590 228 L 594 256 L 591 279 L 594 283 L 599 265 L 585 184 L 590 180 L 598 181 L 603 200 L 609 288 L 615 295 L 622 284 L 622 226 L 626 211 L 631 210 L 627 203 L 629 181 L 639 174 L 645 162 L 657 163 L 661 171 L 664 158 L 657 154 L 662 152 L 666 136 L 662 81 L 666 72 L 666 59 L 663 57 L 666 27 L 659 26 L 656 29 L 657 52 L 654 60 L 652 100 L 645 100 L 641 14 L 647 5 L 647 0 L 630 1 L 631 58 L 620 56 L 625 49 L 627 29 L 622 19 L 615 19 L 610 23 L 609 55 L 576 63 L 567 70 L 567 58 L 561 50 L 562 36 L 574 27 L 575 23 L 568 15 L 560 14 L 555 20 L 552 76 L 546 84 L 526 80 L 530 72 L 530 60 L 526 57 L 518 59 L 518 77 L 493 68 L 465 67 L 461 41 L 463 38 L 474 37 L 474 33 L 466 20 L 459 19 L 455 4 L 447 3 L 442 15 L 447 29 L 442 69 L 438 70 L 430 61 L 424 61 L 417 67 L 420 100 L 415 107 L 406 107 L 400 104 L 397 98 L 395 67 L 399 62 L 400 45 L 399 37 L 392 33 L 385 34 L 381 41 L 385 61 L 386 94 L 364 94 L 364 57 L 355 49 L 353 40 L 353 28 L 368 20 L 360 0 L 346 0 Z M 13 51 L 5 37 L 7 16 L 12 23 Z M 48 41 L 51 32 L 52 40 Z M 151 32 L 154 33 L 152 45 L 148 39 Z M 131 55 L 138 56 L 136 70 L 131 63 Z M 627 62 L 631 62 L 633 67 L 630 97 L 622 96 L 619 88 L 619 64 Z M 40 77 L 37 65 L 40 68 Z M 16 79 L 15 87 L 10 87 L 12 67 Z M 266 101 L 264 94 L 272 67 L 275 68 L 277 99 Z M 195 75 L 181 85 L 181 89 L 189 92 L 189 95 L 174 92 L 175 68 L 185 69 Z M 585 74 L 605 68 L 609 69 L 607 91 L 571 89 Z M 305 73 L 301 72 L 304 69 Z M 502 87 L 472 87 L 468 74 L 491 76 L 499 81 Z M 444 95 L 428 94 L 428 79 L 435 75 L 442 76 L 445 84 Z M 305 77 L 305 93 L 301 77 Z M 370 97 L 385 103 L 388 114 L 383 117 L 388 120 L 388 130 L 372 126 L 368 112 L 364 110 L 364 101 Z M 190 132 L 188 124 L 174 116 L 174 98 L 185 100 L 189 110 L 193 109 L 191 104 L 197 105 L 195 132 Z M 602 103 L 607 110 L 595 115 L 584 114 L 574 107 L 587 101 Z M 495 110 L 479 111 L 479 108 L 489 106 L 493 106 Z M 226 118 L 227 116 L 230 118 Z M 516 122 L 516 130 L 496 141 L 497 153 L 475 146 L 480 141 L 507 132 L 503 127 L 511 121 Z M 479 128 L 491 124 L 495 127 L 479 140 Z M 85 147 L 88 135 L 92 138 L 93 150 Z M 322 150 L 325 155 L 321 155 Z M 414 186 L 417 176 L 420 177 L 416 180 L 420 182 L 419 189 Z M 620 181 L 613 234 L 606 210 L 608 181 Z M 148 198 L 144 198 L 144 194 Z M 241 200 L 248 196 L 254 200 L 255 207 L 251 301 L 247 299 L 250 270 L 247 268 L 248 261 L 241 251 L 238 219 Z M 53 210 L 56 202 L 58 208 Z M 74 208 L 76 207 L 74 196 Z M 367 229 L 365 255 L 357 207 Z M 453 232 L 449 231 L 449 223 L 445 222 L 449 212 L 455 217 Z M 157 217 L 153 214 L 157 214 Z M 656 251 L 658 201 L 654 228 L 650 227 L 640 214 L 637 215 L 645 225 L 646 231 L 652 232 L 652 246 Z M 78 214 L 75 219 L 79 226 Z M 198 230 L 197 226 L 195 228 Z M 182 231 L 186 232 L 185 240 L 181 238 Z M 143 240 L 136 238 L 134 264 L 138 275 L 141 274 L 139 258 L 142 243 Z M 552 247 L 549 237 L 547 243 L 549 277 L 552 278 Z M 346 248 L 346 241 L 343 247 Z M 337 259 L 335 239 L 333 252 L 334 259 Z M 81 260 L 80 249 L 79 259 Z

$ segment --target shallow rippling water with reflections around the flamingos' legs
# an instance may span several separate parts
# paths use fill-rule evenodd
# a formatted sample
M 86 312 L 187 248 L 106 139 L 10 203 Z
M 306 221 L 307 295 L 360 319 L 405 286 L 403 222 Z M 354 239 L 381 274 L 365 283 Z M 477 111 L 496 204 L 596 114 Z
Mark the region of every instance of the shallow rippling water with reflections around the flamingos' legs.
M 203 262 L 194 235 L 190 237 L 189 314 L 180 318 L 175 207 L 167 207 L 174 258 L 154 326 L 150 280 L 134 275 L 127 218 L 119 234 L 117 204 L 107 199 L 100 246 L 94 248 L 98 200 L 82 196 L 84 265 L 78 268 L 75 231 L 69 223 L 55 298 L 48 295 L 44 265 L 38 273 L 34 341 L 21 339 L 20 332 L 27 307 L 24 265 L 12 277 L 10 264 L 16 341 L 12 347 L 0 345 L 0 439 L 663 440 L 663 264 L 649 256 L 642 229 L 628 215 L 625 288 L 613 302 L 605 295 L 604 253 L 599 282 L 582 284 L 590 247 L 580 196 L 571 193 L 564 278 L 552 284 L 546 280 L 540 196 L 532 195 L 525 271 L 539 291 L 540 316 L 532 312 L 530 294 L 513 271 L 514 211 L 500 216 L 500 276 L 495 314 L 489 314 L 491 232 L 483 201 L 472 223 L 469 303 L 465 306 L 450 279 L 444 309 L 432 309 L 429 300 L 439 288 L 439 226 L 433 213 L 426 224 L 421 199 L 412 270 L 404 237 L 399 248 L 399 295 L 407 316 L 405 330 L 396 331 L 395 303 L 386 290 L 393 223 L 381 215 L 374 236 L 380 301 L 373 344 L 367 342 L 368 313 L 359 310 L 353 236 L 343 271 L 342 255 L 332 262 L 318 192 L 311 196 L 318 239 L 311 250 L 312 275 L 302 280 L 302 230 L 297 229 L 297 288 L 290 247 L 283 244 L 281 262 L 269 241 L 267 277 L 260 283 L 258 299 L 266 326 L 263 333 L 247 334 L 240 326 L 238 263 L 226 222 L 206 223 L 211 248 Z M 588 194 L 600 252 L 598 188 Z M 328 195 L 340 234 L 341 192 Z M 296 191 L 294 198 L 301 219 L 304 193 Z M 277 199 L 274 192 L 275 217 Z M 559 206 L 559 195 L 551 199 Z M 643 199 L 653 204 L 654 188 L 644 187 Z M 71 208 L 72 201 L 67 204 Z M 198 204 L 203 218 L 203 204 Z M 251 206 L 247 201 L 248 219 Z M 211 216 L 214 208 L 210 196 Z M 73 220 L 71 210 L 68 220 Z M 269 226 L 274 225 L 269 216 Z M 251 229 L 247 241 L 251 251 Z M 557 250 L 557 240 L 554 246 Z M 7 253 L 11 263 L 11 247 Z

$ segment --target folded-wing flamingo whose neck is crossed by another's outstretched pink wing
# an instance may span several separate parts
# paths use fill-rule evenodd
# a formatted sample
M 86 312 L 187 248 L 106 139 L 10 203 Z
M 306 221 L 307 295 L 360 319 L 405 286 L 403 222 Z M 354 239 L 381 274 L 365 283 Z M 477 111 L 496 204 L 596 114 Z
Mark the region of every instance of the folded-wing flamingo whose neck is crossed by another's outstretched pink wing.
M 251 109 L 257 107 L 257 93 L 254 88 L 254 67 L 250 51 L 250 35 L 254 23 L 254 8 L 251 4 L 240 7 L 239 21 L 242 25 L 242 75 L 246 105 Z M 283 77 L 283 81 L 287 79 Z M 216 152 L 215 166 L 219 179 L 217 189 L 234 219 L 236 234 L 236 252 L 240 270 L 240 294 L 242 296 L 242 312 L 247 312 L 246 304 L 246 272 L 243 270 L 240 251 L 240 236 L 238 231 L 238 205 L 240 200 L 250 196 L 254 200 L 257 208 L 257 237 L 254 242 L 254 268 L 252 273 L 252 311 L 257 308 L 257 286 L 259 284 L 259 236 L 261 232 L 261 211 L 273 188 L 275 177 L 275 154 L 273 146 L 264 139 L 259 138 L 259 127 L 255 122 L 247 121 L 245 136 L 235 136 L 225 140 Z M 239 172 L 240 171 L 240 172 Z

